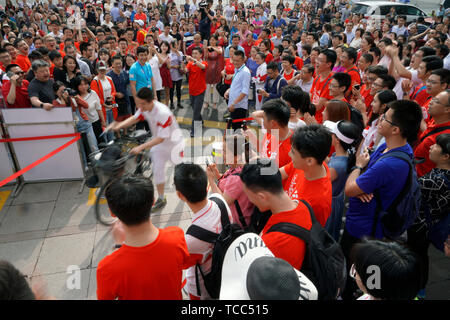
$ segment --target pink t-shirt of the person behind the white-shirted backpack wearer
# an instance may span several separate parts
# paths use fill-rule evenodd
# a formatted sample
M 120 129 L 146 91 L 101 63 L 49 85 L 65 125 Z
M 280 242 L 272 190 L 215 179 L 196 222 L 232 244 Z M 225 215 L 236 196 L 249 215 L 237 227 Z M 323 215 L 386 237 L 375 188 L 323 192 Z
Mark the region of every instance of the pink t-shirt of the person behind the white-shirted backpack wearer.
M 250 200 L 248 200 L 247 195 L 244 193 L 241 178 L 239 177 L 239 175 L 235 175 L 240 173 L 241 171 L 242 167 L 227 170 L 223 174 L 222 179 L 219 180 L 218 187 L 220 191 L 222 191 L 228 197 L 236 199 L 239 202 L 239 206 L 242 210 L 242 215 L 244 216 L 245 223 L 247 223 L 248 226 L 250 224 L 250 218 L 253 213 L 254 205 L 250 202 Z M 230 209 L 231 214 L 233 215 L 234 222 L 242 226 L 241 222 L 239 221 L 239 214 L 236 210 L 236 206 L 232 205 L 230 206 Z

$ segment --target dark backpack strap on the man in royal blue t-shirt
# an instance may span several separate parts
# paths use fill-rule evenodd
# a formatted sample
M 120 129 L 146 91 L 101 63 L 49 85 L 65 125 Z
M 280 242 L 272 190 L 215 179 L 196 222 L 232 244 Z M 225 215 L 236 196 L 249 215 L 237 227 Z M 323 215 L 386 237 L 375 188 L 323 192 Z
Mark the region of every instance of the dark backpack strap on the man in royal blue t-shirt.
M 388 153 L 382 155 L 381 157 L 379 157 L 375 161 L 375 163 L 378 162 L 381 159 L 389 158 L 389 157 L 395 157 L 397 159 L 402 159 L 402 160 L 406 161 L 408 163 L 408 165 L 409 165 L 409 172 L 408 172 L 408 177 L 406 178 L 406 183 L 403 186 L 403 189 L 400 191 L 400 193 L 397 195 L 397 197 L 394 199 L 394 201 L 389 206 L 389 208 L 391 208 L 391 207 L 396 207 L 397 204 L 401 201 L 401 199 L 404 198 L 404 196 L 408 192 L 408 190 L 411 188 L 411 186 L 412 186 L 412 176 L 413 176 L 412 175 L 412 171 L 414 170 L 414 165 L 413 165 L 412 160 L 409 157 L 409 155 L 406 152 L 403 152 L 403 151 L 388 152 Z M 373 221 L 373 225 L 372 225 L 372 236 L 373 237 L 375 237 L 375 233 L 376 233 L 376 229 L 377 229 L 377 223 L 378 223 L 378 220 L 380 218 L 381 210 L 383 209 L 379 190 L 374 192 L 374 198 L 377 201 L 377 208 L 375 210 L 375 216 L 374 216 L 374 221 Z M 389 208 L 388 208 L 388 210 L 389 210 Z

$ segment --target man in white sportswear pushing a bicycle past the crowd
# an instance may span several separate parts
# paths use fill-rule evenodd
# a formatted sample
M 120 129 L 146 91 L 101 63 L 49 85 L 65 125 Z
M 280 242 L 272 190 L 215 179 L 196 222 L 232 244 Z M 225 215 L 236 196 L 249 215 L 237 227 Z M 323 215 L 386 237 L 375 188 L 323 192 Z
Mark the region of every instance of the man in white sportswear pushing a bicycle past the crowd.
M 153 135 L 151 140 L 131 149 L 130 153 L 138 154 L 150 149 L 153 182 L 158 190 L 158 199 L 152 209 L 156 211 L 167 204 L 164 196 L 166 163 L 171 161 L 178 164 L 183 160 L 184 139 L 175 116 L 166 105 L 155 100 L 152 89 L 141 88 L 136 94 L 135 102 L 138 109 L 135 115 L 125 121 L 111 123 L 107 130 L 119 131 L 141 120 L 148 122 Z

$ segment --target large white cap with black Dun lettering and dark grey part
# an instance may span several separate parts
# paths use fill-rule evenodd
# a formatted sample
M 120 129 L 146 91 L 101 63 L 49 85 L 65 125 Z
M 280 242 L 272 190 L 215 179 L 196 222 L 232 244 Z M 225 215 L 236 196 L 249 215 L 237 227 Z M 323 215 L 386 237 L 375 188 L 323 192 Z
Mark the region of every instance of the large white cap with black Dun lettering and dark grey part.
M 317 300 L 317 296 L 314 284 L 276 258 L 256 233 L 235 239 L 225 254 L 220 300 Z

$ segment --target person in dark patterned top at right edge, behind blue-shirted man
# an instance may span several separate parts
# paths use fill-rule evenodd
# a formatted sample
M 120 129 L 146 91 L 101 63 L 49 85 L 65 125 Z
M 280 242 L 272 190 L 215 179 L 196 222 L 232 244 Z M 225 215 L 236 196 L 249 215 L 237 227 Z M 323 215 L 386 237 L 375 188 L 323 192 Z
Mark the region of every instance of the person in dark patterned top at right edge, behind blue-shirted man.
M 418 298 L 425 298 L 428 282 L 428 247 L 430 242 L 444 251 L 449 235 L 450 219 L 450 133 L 442 133 L 430 147 L 429 159 L 435 165 L 419 178 L 422 203 L 415 223 L 408 229 L 408 245 L 417 253 L 422 263 L 421 290 Z

